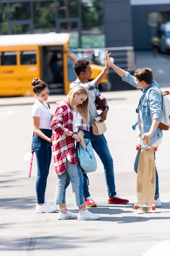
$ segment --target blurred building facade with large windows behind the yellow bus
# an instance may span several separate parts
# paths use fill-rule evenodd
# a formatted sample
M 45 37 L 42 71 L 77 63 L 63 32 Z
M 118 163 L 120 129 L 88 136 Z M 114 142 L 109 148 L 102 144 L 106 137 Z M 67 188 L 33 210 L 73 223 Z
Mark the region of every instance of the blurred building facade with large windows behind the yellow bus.
M 0 0 L 0 35 L 48 32 L 71 33 L 73 48 L 132 46 L 130 1 Z

